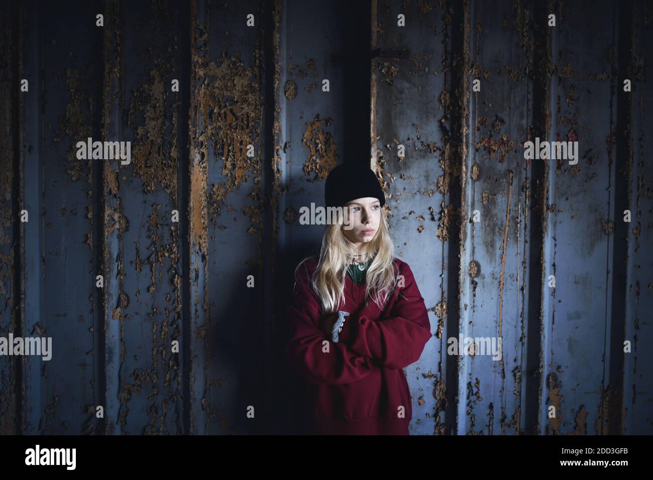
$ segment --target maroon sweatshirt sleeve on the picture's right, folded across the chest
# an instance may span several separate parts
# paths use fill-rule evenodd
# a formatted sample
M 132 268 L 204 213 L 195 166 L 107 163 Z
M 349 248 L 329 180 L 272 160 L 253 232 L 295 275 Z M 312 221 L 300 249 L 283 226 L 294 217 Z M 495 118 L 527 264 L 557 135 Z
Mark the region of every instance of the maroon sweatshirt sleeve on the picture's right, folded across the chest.
M 424 298 L 417 288 L 413 272 L 407 263 L 400 268 L 404 287 L 388 316 L 372 321 L 365 315 L 349 320 L 350 348 L 366 357 L 377 359 L 385 368 L 398 370 L 417 362 L 424 345 L 431 338 L 431 324 Z

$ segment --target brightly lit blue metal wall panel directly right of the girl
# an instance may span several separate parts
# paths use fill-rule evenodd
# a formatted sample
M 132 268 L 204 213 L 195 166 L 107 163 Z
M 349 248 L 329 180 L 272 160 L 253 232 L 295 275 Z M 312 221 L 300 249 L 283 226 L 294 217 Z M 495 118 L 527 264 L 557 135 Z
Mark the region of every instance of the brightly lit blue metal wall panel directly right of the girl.
M 439 122 L 450 107 L 449 99 L 440 95 L 445 83 L 451 82 L 443 72 L 443 63 L 449 59 L 445 52 L 451 40 L 445 36 L 450 26 L 439 8 L 414 4 L 406 16 L 421 20 L 415 28 L 401 29 L 394 26 L 400 12 L 401 5 L 377 4 L 381 28 L 376 46 L 402 46 L 410 57 L 372 59 L 375 159 L 387 196 L 395 255 L 415 274 L 434 334 L 421 359 L 404 369 L 413 396 L 411 434 L 434 434 L 445 429 L 445 371 L 450 362 L 445 319 L 449 274 L 455 275 L 457 269 L 450 270 L 448 258 L 449 223 L 455 222 L 448 188 L 453 165 L 443 142 L 447 126 Z M 420 41 L 426 37 L 433 40 Z M 405 148 L 403 158 L 399 157 L 400 144 Z

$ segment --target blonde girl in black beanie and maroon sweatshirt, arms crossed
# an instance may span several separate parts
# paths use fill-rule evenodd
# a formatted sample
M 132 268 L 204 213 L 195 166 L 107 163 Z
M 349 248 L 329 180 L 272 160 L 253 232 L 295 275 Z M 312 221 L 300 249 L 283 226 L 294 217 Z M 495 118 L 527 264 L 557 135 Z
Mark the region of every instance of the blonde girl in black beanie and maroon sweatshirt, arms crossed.
M 315 434 L 408 435 L 411 395 L 403 368 L 431 338 L 408 264 L 394 258 L 370 168 L 340 165 L 325 183 L 327 207 L 349 209 L 327 226 L 319 257 L 295 270 L 286 359 L 308 383 Z

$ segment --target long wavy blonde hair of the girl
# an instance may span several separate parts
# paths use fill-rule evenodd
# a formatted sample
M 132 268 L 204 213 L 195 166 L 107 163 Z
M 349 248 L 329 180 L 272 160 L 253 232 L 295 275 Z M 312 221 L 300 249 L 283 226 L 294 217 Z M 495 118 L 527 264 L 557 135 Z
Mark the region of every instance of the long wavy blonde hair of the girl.
M 338 215 L 338 222 L 327 225 L 322 235 L 322 246 L 315 272 L 311 278 L 311 287 L 321 300 L 323 313 L 334 313 L 345 302 L 345 276 L 349 264 L 353 263 L 353 244 L 342 232 L 343 217 Z M 309 255 L 295 269 L 297 271 Z M 379 231 L 370 242 L 364 244 L 360 261 L 366 263 L 372 259 L 367 270 L 365 301 L 371 298 L 383 310 L 394 283 L 396 272 L 394 267 L 394 243 L 390 236 L 390 226 L 381 212 Z

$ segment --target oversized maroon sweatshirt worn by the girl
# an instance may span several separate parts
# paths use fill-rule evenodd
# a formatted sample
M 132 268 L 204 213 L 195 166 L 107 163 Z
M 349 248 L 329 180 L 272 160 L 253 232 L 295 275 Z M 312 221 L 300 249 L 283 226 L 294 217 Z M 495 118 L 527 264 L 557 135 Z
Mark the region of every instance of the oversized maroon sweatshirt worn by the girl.
M 407 435 L 413 416 L 411 394 L 403 368 L 416 362 L 431 338 L 424 298 L 413 272 L 394 259 L 397 287 L 379 310 L 364 302 L 366 281 L 346 277 L 345 304 L 349 312 L 339 342 L 320 329 L 323 311 L 310 278 L 317 261 L 309 259 L 295 277 L 288 307 L 286 359 L 308 387 L 315 434 Z

